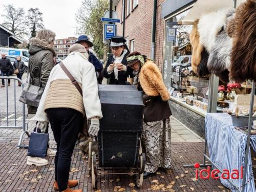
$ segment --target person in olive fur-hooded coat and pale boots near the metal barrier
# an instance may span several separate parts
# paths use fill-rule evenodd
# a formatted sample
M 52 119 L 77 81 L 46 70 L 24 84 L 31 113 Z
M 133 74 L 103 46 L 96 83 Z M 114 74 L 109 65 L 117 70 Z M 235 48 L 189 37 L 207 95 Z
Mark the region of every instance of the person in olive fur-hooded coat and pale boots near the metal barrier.
M 28 73 L 30 75 L 30 82 L 34 86 L 38 86 L 41 88 L 46 87 L 46 83 L 48 81 L 50 72 L 54 67 L 53 57 L 56 56 L 56 53 L 53 49 L 53 43 L 55 39 L 55 33 L 48 29 L 40 29 L 35 38 L 31 38 L 29 41 L 29 66 Z M 35 106 L 28 105 L 28 113 L 35 114 L 37 108 Z M 36 122 L 37 124 L 38 122 Z M 36 127 L 34 132 L 36 131 Z M 37 131 L 38 132 L 38 131 Z M 45 131 L 48 133 L 48 127 Z M 48 156 L 55 156 L 56 151 L 53 151 L 51 148 L 47 150 Z M 42 159 L 39 157 L 31 157 L 28 156 L 27 159 L 28 165 L 47 165 L 48 160 Z

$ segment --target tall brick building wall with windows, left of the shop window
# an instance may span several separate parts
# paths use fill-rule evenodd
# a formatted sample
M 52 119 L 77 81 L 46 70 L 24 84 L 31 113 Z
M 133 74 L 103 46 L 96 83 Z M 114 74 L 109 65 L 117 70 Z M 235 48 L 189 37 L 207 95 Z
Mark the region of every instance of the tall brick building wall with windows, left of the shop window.
M 127 40 L 127 45 L 131 51 L 139 51 L 141 54 L 151 57 L 151 39 L 152 39 L 152 18 L 154 1 L 140 0 L 138 5 L 131 2 L 130 9 L 127 10 L 129 1 L 125 1 L 125 24 L 124 37 Z M 163 60 L 163 41 L 164 41 L 164 19 L 161 18 L 161 4 L 165 0 L 159 0 L 157 5 L 157 21 L 156 21 L 156 48 L 155 60 L 159 69 L 162 69 Z M 115 3 L 115 2 L 114 2 Z M 117 24 L 117 35 L 122 35 L 123 18 L 122 18 L 122 1 L 115 4 L 115 9 L 118 18 L 121 18 L 121 23 Z

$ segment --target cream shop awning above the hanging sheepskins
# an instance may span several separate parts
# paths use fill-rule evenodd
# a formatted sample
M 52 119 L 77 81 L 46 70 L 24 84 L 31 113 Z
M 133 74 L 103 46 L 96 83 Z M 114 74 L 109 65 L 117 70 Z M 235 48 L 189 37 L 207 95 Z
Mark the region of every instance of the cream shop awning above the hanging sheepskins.
M 233 0 L 214 0 L 214 1 L 205 1 L 198 0 L 195 5 L 190 9 L 188 14 L 179 21 L 181 25 L 193 25 L 196 19 L 200 18 L 201 15 L 206 13 L 214 12 L 223 8 L 232 8 L 234 7 Z

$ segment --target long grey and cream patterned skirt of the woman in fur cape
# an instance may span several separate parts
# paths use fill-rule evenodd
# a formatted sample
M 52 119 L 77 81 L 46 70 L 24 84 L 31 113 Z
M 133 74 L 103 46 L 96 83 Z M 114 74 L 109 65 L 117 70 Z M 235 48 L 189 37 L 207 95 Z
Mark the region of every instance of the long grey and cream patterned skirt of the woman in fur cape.
M 170 168 L 170 118 L 143 122 L 142 142 L 146 150 L 145 172 L 155 173 L 158 167 Z

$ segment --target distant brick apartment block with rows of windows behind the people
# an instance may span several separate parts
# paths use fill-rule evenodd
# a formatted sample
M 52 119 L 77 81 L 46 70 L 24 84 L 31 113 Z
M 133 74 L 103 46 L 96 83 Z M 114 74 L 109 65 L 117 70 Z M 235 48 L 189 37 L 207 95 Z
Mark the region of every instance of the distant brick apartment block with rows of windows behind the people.
M 72 46 L 75 41 L 77 40 L 76 37 L 68 37 L 66 39 L 56 39 L 54 41 L 54 48 L 57 53 L 57 57 L 64 59 L 68 56 L 68 50 L 70 46 Z

